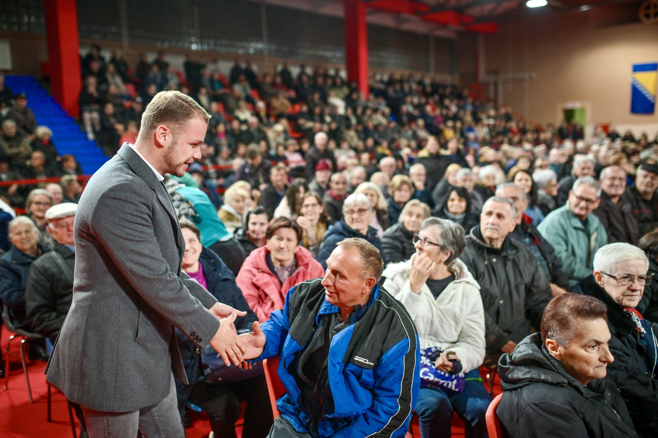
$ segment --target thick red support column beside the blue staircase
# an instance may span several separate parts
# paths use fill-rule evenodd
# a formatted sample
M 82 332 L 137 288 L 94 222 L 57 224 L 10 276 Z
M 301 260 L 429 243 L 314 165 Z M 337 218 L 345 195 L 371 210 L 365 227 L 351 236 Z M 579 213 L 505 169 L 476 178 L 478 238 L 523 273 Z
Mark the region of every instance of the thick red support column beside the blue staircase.
M 82 79 L 76 0 L 47 0 L 43 6 L 48 39 L 48 74 L 53 97 L 69 116 L 78 116 Z

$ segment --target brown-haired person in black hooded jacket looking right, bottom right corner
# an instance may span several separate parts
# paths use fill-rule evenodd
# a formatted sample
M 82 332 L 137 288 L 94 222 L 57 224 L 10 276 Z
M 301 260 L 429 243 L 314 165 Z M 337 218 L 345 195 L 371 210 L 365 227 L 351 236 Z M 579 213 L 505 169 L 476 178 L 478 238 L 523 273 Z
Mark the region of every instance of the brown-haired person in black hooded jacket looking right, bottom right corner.
M 605 304 L 566 293 L 553 298 L 542 332 L 501 356 L 503 397 L 496 409 L 511 438 L 637 437 L 617 386 Z M 612 343 L 611 343 L 612 344 Z

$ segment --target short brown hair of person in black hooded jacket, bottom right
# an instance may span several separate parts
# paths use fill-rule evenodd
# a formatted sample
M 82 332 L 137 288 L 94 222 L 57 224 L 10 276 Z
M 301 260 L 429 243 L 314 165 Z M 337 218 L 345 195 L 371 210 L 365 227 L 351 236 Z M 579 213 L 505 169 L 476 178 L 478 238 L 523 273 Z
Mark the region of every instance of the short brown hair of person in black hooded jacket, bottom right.
M 608 321 L 608 309 L 603 301 L 573 292 L 559 295 L 551 299 L 544 309 L 542 342 L 553 339 L 562 347 L 567 347 L 574 336 L 578 320 L 599 318 Z

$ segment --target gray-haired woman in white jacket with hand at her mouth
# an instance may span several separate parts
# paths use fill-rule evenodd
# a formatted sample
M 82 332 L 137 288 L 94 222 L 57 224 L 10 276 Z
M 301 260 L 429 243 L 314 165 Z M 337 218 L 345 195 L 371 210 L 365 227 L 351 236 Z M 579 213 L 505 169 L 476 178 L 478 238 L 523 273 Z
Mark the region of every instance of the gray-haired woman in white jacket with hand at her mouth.
M 416 412 L 422 438 L 450 437 L 453 410 L 464 420 L 467 438 L 488 436 L 484 415 L 491 397 L 478 373 L 484 360 L 484 309 L 478 282 L 457 258 L 465 244 L 461 225 L 429 217 L 414 236 L 416 253 L 383 274 L 384 288 L 413 318 L 420 347 L 443 350 L 434 366 L 466 378 L 464 390 L 454 395 L 420 388 Z

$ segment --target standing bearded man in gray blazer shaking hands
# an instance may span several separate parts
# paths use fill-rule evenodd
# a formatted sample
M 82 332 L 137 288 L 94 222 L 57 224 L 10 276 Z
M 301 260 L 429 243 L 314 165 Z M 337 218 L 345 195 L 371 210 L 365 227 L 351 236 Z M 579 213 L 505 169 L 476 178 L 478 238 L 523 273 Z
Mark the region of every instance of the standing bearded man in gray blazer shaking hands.
M 185 244 L 162 183 L 201 157 L 209 118 L 178 91 L 158 93 L 134 146 L 124 144 L 80 198 L 73 302 L 46 372 L 82 406 L 91 438 L 184 436 L 174 376 L 188 379 L 174 327 L 199 348 L 210 343 L 227 366 L 242 360 L 232 322 L 246 313 L 181 271 Z

